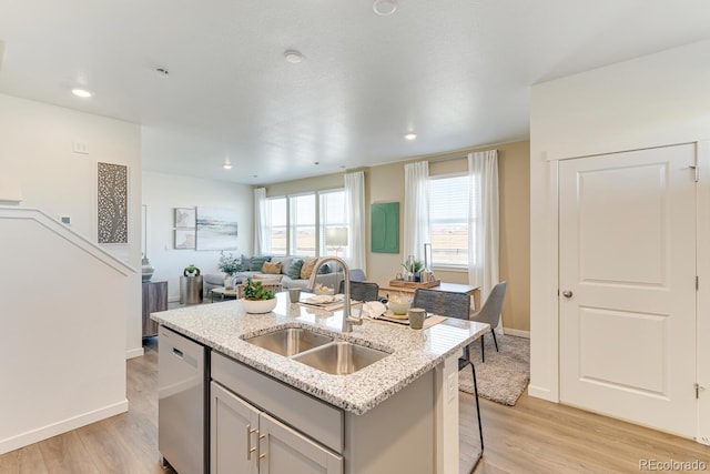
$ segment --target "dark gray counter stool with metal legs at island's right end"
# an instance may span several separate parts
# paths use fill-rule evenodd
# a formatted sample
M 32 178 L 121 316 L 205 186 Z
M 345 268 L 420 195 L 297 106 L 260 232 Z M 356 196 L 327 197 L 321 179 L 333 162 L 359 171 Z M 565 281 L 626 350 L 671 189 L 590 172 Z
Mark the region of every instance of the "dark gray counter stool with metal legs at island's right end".
M 470 314 L 470 297 L 466 293 L 452 291 L 438 291 L 418 288 L 414 292 L 412 307 L 424 307 L 428 313 L 438 314 L 458 320 L 468 320 Z M 476 397 L 476 416 L 478 418 L 478 435 L 480 437 L 480 453 L 484 452 L 484 430 L 480 424 L 480 406 L 478 403 L 478 383 L 476 381 L 476 367 L 470 360 L 469 345 L 464 347 L 464 355 L 458 357 L 458 370 L 470 365 L 474 375 L 474 395 Z

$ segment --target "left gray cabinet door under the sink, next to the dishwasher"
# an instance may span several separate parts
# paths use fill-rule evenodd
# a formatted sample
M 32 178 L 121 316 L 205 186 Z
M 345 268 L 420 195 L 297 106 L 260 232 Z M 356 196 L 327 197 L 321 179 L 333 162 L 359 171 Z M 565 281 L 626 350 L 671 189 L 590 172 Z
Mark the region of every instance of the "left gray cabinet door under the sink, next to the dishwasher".
M 210 472 L 255 474 L 258 411 L 222 385 L 210 389 Z

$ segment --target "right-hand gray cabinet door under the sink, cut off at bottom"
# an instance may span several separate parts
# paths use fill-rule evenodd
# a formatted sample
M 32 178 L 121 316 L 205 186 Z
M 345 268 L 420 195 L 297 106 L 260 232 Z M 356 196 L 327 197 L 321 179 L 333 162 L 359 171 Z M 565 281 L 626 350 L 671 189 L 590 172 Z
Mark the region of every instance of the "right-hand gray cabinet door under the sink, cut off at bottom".
M 258 420 L 262 474 L 342 474 L 343 457 L 265 413 Z

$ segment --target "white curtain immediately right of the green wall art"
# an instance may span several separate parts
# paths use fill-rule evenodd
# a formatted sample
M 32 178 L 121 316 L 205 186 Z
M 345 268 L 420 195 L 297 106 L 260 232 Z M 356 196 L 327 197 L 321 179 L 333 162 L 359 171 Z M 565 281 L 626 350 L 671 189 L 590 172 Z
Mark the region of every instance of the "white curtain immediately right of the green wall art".
M 429 162 L 404 165 L 404 255 L 424 261 L 424 244 L 432 242 L 429 225 Z

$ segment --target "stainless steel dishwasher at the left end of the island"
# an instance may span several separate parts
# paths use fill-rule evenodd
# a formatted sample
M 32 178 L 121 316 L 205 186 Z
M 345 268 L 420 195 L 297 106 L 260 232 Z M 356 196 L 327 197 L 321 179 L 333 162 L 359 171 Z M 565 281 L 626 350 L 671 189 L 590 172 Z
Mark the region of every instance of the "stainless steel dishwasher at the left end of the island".
M 207 473 L 207 351 L 160 326 L 158 450 L 180 474 Z

